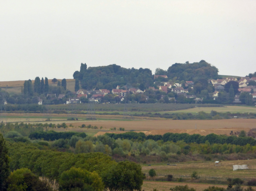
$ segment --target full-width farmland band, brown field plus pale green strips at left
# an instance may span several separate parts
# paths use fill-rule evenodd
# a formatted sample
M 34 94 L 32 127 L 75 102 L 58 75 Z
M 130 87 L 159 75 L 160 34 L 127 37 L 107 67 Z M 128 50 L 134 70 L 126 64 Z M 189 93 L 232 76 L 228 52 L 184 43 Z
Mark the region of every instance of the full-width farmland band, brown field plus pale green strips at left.
M 171 120 L 162 118 L 146 118 L 146 117 L 134 117 L 132 119 L 123 119 L 122 116 L 96 116 L 97 120 L 86 120 L 87 115 L 77 115 L 78 121 L 70 121 L 67 118 L 67 114 L 52 114 L 51 121 L 47 122 L 47 116 L 41 113 L 5 113 L 4 116 L 0 116 L 0 120 L 3 122 L 25 122 L 25 123 L 53 123 L 61 124 L 66 123 L 68 126 L 72 124 L 74 127 L 79 127 L 82 124 L 102 126 L 106 130 L 116 127 L 124 128 L 126 131 L 135 130 L 143 131 L 148 134 L 161 134 L 172 133 L 188 133 L 188 134 L 201 134 L 207 135 L 210 133 L 215 134 L 227 134 L 230 131 L 249 131 L 251 128 L 256 128 L 256 119 L 220 119 L 220 120 Z M 5 121 L 6 120 L 6 121 Z M 71 128 L 68 131 L 77 131 L 79 128 Z M 97 133 L 99 131 L 95 131 Z M 104 134 L 105 132 L 99 132 Z M 98 135 L 98 134 L 97 134 Z

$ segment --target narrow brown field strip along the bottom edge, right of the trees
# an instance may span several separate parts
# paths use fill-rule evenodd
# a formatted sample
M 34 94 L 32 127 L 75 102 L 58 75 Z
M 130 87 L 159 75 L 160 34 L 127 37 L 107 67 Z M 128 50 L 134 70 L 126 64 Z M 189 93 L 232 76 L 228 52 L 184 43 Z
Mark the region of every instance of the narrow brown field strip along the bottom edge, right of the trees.
M 218 185 L 218 184 L 199 184 L 199 183 L 182 183 L 182 182 L 155 182 L 155 181 L 143 181 L 142 190 L 145 191 L 153 191 L 153 189 L 157 189 L 159 191 L 168 191 L 170 188 L 173 188 L 178 185 L 188 185 L 189 188 L 194 188 L 196 191 L 202 191 L 207 189 L 209 186 L 218 186 L 222 188 L 227 188 L 228 185 Z M 243 188 L 247 188 L 247 186 L 242 186 Z M 255 186 L 253 186 L 254 188 Z M 254 188 L 255 189 L 255 188 Z

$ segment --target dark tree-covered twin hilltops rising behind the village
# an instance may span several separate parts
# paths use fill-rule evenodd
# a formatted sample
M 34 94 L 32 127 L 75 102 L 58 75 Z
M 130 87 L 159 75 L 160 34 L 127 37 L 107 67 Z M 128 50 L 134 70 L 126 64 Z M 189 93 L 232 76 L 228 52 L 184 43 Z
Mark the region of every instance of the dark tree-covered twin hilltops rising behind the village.
M 217 79 L 218 69 L 201 60 L 199 63 L 175 63 L 167 71 L 157 68 L 155 75 L 167 75 L 168 80 L 195 81 L 197 79 Z M 81 63 L 80 71 L 75 71 L 74 79 L 81 81 L 83 89 L 114 89 L 116 86 L 129 85 L 133 87 L 154 86 L 154 75 L 148 68 L 124 68 L 118 65 L 88 67 Z M 160 77 L 161 78 L 161 77 Z M 160 80 L 163 80 L 162 78 Z M 174 81 L 175 81 L 174 80 Z

